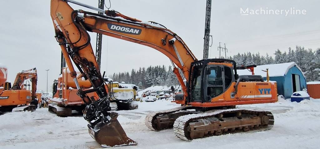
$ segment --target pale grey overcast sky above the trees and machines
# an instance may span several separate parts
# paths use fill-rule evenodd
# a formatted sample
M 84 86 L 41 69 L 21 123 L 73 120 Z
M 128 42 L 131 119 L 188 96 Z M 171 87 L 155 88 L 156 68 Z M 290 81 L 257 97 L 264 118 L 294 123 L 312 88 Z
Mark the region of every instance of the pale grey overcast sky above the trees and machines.
M 78 0 L 92 6 L 98 0 Z M 8 81 L 33 67 L 38 71 L 38 90 L 48 90 L 60 74 L 60 47 L 54 39 L 49 0 L 2 1 L 0 12 L 1 61 L 8 67 Z M 178 34 L 195 56 L 202 59 L 205 0 L 111 0 L 111 9 L 143 21 L 155 21 Z M 74 9 L 83 7 L 70 4 Z M 106 0 L 106 5 L 108 2 Z M 279 48 L 285 51 L 296 45 L 316 49 L 320 47 L 320 19 L 317 0 L 229 0 L 212 1 L 211 35 L 213 44 L 209 58 L 219 57 L 217 45 L 226 43 L 227 56 L 238 52 L 272 54 Z M 249 9 L 306 10 L 306 15 L 249 15 L 240 16 L 240 7 Z M 95 12 L 95 11 L 92 11 Z M 95 45 L 96 34 L 90 33 Z M 107 74 L 131 71 L 150 65 L 169 66 L 169 59 L 155 49 L 103 37 L 101 71 Z M 95 47 L 93 47 L 95 50 Z

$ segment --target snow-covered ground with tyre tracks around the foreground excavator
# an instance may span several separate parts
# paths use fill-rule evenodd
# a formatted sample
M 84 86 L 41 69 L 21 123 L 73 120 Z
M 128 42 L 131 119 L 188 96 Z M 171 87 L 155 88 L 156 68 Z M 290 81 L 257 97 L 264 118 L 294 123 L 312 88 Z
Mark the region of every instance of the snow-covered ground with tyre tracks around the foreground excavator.
M 139 102 L 139 108 L 117 111 L 118 120 L 136 146 L 117 149 L 164 148 L 319 148 L 320 100 L 300 103 L 280 100 L 277 103 L 242 105 L 241 108 L 264 109 L 275 116 L 271 130 L 226 134 L 186 142 L 175 137 L 173 130 L 155 132 L 144 124 L 150 111 L 174 108 L 170 101 Z M 35 112 L 0 115 L 0 148 L 100 148 L 88 134 L 87 122 L 81 115 L 58 117 L 47 108 Z

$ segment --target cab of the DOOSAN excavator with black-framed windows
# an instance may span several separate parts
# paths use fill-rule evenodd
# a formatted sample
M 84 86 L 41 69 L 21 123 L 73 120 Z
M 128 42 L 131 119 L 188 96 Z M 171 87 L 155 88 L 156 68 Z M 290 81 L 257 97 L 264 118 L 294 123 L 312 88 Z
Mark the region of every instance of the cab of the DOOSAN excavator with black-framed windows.
M 204 59 L 191 63 L 188 102 L 211 102 L 225 93 L 237 78 L 236 62 L 227 59 Z

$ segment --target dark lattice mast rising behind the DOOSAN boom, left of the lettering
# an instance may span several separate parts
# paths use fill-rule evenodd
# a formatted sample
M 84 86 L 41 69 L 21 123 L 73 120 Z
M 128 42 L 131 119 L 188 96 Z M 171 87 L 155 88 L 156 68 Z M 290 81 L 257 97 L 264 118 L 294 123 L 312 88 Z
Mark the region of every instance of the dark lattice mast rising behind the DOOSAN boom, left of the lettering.
M 104 0 L 99 0 L 99 8 L 104 9 Z M 98 12 L 103 15 L 102 12 Z M 102 34 L 97 33 L 97 42 L 96 42 L 96 60 L 99 65 L 99 70 L 101 69 L 101 49 L 102 49 Z

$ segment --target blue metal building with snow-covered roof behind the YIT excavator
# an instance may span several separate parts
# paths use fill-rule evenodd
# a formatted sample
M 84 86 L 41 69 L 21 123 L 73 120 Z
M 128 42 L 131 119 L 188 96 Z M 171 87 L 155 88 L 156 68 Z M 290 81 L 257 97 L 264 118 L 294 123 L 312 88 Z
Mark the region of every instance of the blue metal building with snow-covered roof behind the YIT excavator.
M 254 73 L 267 80 L 267 73 L 262 71 L 266 69 L 269 69 L 270 81 L 277 82 L 278 94 L 283 95 L 286 99 L 290 98 L 293 92 L 307 88 L 306 78 L 300 67 L 294 62 L 259 65 L 254 68 Z M 237 70 L 237 72 L 239 75 L 251 74 L 248 70 Z

